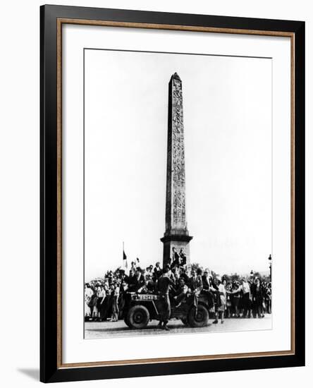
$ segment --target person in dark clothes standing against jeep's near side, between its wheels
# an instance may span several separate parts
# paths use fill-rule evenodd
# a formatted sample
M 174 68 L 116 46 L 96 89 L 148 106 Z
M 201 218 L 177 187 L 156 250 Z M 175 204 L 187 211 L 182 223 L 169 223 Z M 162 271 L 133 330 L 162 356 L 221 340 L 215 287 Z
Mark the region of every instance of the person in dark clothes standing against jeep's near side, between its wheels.
M 163 330 L 169 330 L 167 324 L 171 317 L 171 303 L 169 300 L 171 286 L 173 286 L 173 282 L 170 279 L 170 267 L 166 265 L 162 276 L 157 281 L 157 291 L 160 295 L 159 328 Z

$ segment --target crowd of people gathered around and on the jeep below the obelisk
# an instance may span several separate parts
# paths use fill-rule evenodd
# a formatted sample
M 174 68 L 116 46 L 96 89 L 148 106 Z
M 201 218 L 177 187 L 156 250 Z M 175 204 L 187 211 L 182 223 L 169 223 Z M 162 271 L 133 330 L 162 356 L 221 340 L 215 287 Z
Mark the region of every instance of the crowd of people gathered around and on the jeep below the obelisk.
M 225 318 L 262 318 L 271 313 L 270 281 L 254 274 L 234 280 L 227 275 L 216 275 L 208 268 L 188 269 L 184 257 L 180 258 L 173 252 L 173 259 L 163 269 L 159 262 L 146 268 L 132 262 L 129 271 L 118 268 L 85 284 L 85 320 L 116 322 L 123 318 L 128 292 L 157 293 L 166 298 L 169 312 L 163 320 L 166 329 L 171 305 L 179 307 L 188 296 L 193 296 L 197 303 L 200 293 L 207 296 L 214 324 L 219 320 L 223 323 Z

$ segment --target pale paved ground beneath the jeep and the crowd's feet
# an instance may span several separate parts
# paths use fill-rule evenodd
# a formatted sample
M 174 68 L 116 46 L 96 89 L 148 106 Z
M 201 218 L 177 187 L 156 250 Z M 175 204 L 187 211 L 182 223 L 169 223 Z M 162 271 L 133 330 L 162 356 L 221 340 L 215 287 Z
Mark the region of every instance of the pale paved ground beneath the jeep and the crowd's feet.
M 158 321 L 152 320 L 146 329 L 134 330 L 129 329 L 123 320 L 118 322 L 86 322 L 85 323 L 85 339 L 104 338 L 104 337 L 134 337 L 137 335 L 168 335 L 168 334 L 183 334 L 194 332 L 243 332 L 247 330 L 269 330 L 271 329 L 271 315 L 265 315 L 264 318 L 226 319 L 221 325 L 221 320 L 217 325 L 209 321 L 209 326 L 200 329 L 185 327 L 180 320 L 171 320 L 168 322 L 169 332 L 158 329 Z

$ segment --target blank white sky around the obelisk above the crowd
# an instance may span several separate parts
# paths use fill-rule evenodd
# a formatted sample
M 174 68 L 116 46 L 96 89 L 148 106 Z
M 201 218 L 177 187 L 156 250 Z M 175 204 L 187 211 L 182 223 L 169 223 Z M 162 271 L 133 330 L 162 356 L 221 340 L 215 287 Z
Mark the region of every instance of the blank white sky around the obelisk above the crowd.
M 183 82 L 191 262 L 264 271 L 271 59 L 85 50 L 85 279 L 162 261 L 168 81 Z

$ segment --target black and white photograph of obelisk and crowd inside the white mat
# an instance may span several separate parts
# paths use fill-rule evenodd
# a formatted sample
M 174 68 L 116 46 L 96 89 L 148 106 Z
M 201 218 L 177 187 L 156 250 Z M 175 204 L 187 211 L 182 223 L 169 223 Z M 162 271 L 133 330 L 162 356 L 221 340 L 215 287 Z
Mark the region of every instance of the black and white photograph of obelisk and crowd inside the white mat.
M 84 338 L 271 330 L 272 59 L 83 55 Z

